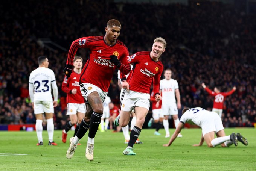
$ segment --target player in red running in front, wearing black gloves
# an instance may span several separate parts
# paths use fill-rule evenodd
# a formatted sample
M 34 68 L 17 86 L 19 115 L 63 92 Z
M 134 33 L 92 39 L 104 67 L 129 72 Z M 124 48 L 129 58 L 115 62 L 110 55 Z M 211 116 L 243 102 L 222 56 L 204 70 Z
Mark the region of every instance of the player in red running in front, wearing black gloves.
M 120 35 L 121 24 L 117 20 L 109 20 L 105 28 L 105 36 L 89 36 L 73 41 L 64 73 L 70 77 L 73 58 L 78 48 L 89 48 L 90 58 L 82 69 L 79 79 L 80 90 L 87 101 L 85 117 L 81 121 L 75 137 L 70 138 L 67 159 L 74 155 L 76 145 L 89 129 L 85 156 L 93 160 L 94 137 L 101 122 L 103 101 L 107 96 L 108 87 L 113 77 L 114 70 L 118 68 L 123 74 L 131 70 L 128 49 L 123 42 L 117 40 Z

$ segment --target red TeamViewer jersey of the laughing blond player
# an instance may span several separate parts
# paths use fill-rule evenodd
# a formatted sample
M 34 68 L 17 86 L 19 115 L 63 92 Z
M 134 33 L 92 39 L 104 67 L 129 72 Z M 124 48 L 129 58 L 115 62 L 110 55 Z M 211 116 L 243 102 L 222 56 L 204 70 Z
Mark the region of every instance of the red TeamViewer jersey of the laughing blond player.
M 130 90 L 149 94 L 153 81 L 153 91 L 159 93 L 160 77 L 163 72 L 162 62 L 151 59 L 150 52 L 137 52 L 129 56 L 129 61 L 134 64 L 127 78 Z M 125 78 L 124 74 L 120 76 L 121 79 Z

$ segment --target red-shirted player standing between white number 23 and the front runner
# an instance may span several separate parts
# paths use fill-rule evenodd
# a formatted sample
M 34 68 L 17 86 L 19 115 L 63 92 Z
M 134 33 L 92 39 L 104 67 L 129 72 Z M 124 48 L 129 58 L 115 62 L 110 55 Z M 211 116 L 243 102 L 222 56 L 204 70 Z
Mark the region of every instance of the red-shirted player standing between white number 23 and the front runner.
M 62 142 L 67 140 L 67 132 L 72 126 L 76 124 L 76 132 L 80 127 L 80 123 L 85 115 L 85 103 L 84 97 L 80 91 L 79 78 L 82 71 L 83 59 L 80 56 L 75 56 L 73 60 L 74 69 L 69 79 L 65 76 L 62 83 L 62 91 L 67 93 L 67 115 L 69 115 L 70 121 L 67 123 L 64 130 L 62 130 Z

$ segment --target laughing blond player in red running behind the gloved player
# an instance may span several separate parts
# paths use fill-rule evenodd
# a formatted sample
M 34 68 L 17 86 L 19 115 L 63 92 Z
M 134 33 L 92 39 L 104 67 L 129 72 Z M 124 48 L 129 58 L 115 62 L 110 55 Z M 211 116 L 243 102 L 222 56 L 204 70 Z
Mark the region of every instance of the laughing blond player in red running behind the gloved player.
M 160 101 L 159 94 L 160 77 L 163 72 L 163 64 L 159 60 L 165 51 L 166 41 L 163 38 L 155 38 L 151 52 L 137 52 L 129 56 L 129 61 L 133 64 L 133 70 L 129 74 L 127 81 L 125 74 L 120 73 L 123 91 L 121 101 L 121 112 L 115 120 L 115 125 L 125 127 L 130 120 L 131 111 L 136 114 L 136 124 L 131 130 L 128 146 L 123 151 L 125 155 L 136 155 L 132 148 L 140 135 L 145 117 L 148 114 L 150 105 L 150 87 L 153 82 L 153 91 L 156 101 Z

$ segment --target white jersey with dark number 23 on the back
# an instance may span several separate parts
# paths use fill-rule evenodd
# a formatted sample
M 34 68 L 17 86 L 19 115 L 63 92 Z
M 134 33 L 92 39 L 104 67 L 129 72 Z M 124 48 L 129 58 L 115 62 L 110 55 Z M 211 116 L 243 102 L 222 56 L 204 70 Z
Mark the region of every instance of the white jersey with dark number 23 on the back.
M 34 101 L 52 101 L 52 82 L 56 79 L 49 68 L 38 67 L 30 73 L 29 84 L 34 87 Z

